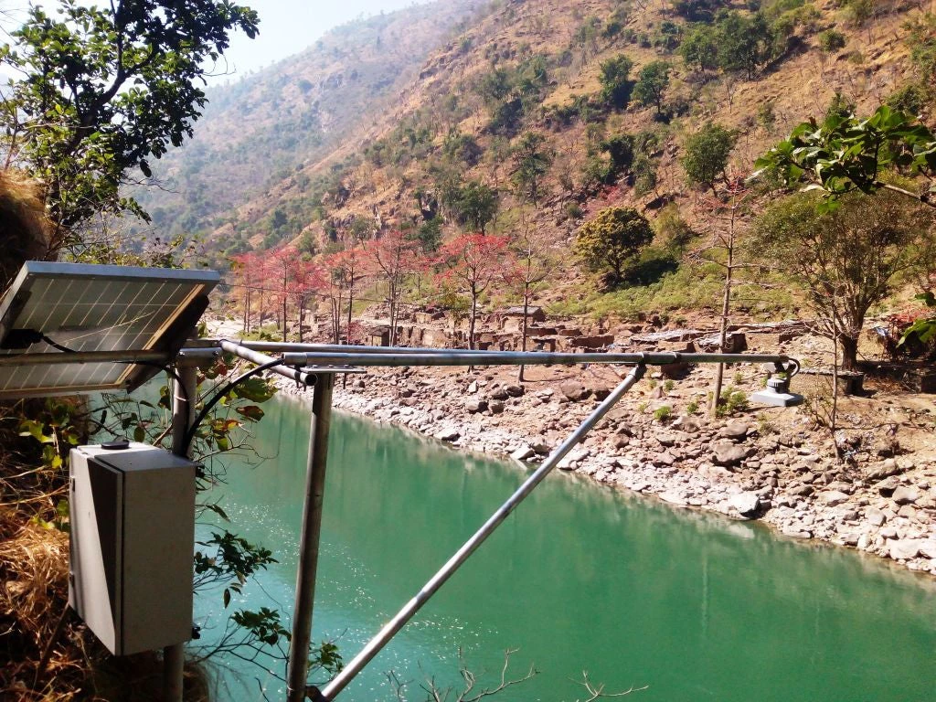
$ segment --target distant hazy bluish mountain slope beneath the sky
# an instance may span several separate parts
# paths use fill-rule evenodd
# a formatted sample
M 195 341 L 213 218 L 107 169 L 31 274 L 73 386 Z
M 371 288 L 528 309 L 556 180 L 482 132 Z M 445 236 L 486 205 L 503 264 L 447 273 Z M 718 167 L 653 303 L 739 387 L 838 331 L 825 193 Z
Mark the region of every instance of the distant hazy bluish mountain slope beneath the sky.
M 308 50 L 212 87 L 193 139 L 138 193 L 157 230 L 190 233 L 308 159 L 328 154 L 413 80 L 426 56 L 486 0 L 437 0 L 329 31 Z

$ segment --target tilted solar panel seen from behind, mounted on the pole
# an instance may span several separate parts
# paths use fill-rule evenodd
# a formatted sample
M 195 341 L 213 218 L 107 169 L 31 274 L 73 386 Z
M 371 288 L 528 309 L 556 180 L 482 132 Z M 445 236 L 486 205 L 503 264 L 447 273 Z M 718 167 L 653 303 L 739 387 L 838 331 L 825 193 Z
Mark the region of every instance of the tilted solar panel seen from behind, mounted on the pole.
M 0 359 L 67 353 L 50 342 L 74 352 L 160 351 L 171 358 L 218 280 L 216 271 L 27 261 L 0 299 Z M 0 367 L 0 399 L 129 390 L 157 372 L 111 361 Z

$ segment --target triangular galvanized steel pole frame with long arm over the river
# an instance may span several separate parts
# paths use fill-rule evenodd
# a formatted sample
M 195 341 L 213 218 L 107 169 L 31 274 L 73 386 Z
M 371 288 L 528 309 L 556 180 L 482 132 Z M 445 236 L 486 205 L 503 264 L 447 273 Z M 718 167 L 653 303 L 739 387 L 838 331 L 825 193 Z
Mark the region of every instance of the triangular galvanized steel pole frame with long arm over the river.
M 222 351 L 244 358 L 257 365 L 271 364 L 270 370 L 297 383 L 314 388 L 312 433 L 309 440 L 309 461 L 306 475 L 305 503 L 302 508 L 299 571 L 296 576 L 296 601 L 293 610 L 292 644 L 287 667 L 287 702 L 330 702 L 358 676 L 413 619 L 435 592 L 446 583 L 472 553 L 493 534 L 537 485 L 577 446 L 600 422 L 624 394 L 646 373 L 647 366 L 675 363 L 772 363 L 778 372 L 795 374 L 799 364 L 793 358 L 766 354 L 688 354 L 654 353 L 540 353 L 514 351 L 465 351 L 383 346 L 344 346 L 336 344 L 288 344 L 275 342 L 243 342 L 217 340 L 209 342 Z M 280 354 L 280 364 L 276 357 Z M 331 421 L 331 390 L 335 373 L 347 373 L 364 367 L 400 366 L 493 366 L 493 365 L 602 365 L 632 366 L 607 398 L 558 446 L 548 458 L 510 495 L 475 534 L 465 541 L 429 581 L 407 602 L 342 671 L 321 689 L 307 683 L 308 652 L 314 613 L 315 577 L 318 562 L 319 535 L 324 505 L 325 475 L 328 464 L 328 436 Z

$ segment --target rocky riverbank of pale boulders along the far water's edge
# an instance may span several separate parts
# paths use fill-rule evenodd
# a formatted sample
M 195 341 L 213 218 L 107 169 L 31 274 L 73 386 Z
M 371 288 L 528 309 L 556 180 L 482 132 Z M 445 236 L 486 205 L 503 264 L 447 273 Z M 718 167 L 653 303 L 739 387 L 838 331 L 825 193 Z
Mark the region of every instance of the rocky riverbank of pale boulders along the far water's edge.
M 676 383 L 649 374 L 560 468 L 670 505 L 761 519 L 790 537 L 859 548 L 936 575 L 931 428 L 901 422 L 906 417 L 893 403 L 878 398 L 889 420 L 874 424 L 878 418 L 866 413 L 861 426 L 840 431 L 840 460 L 828 431 L 812 428 L 807 409 L 740 407 L 735 417 L 703 417 L 708 373 L 696 369 Z M 339 379 L 334 406 L 451 446 L 535 462 L 617 382 L 608 369 L 531 369 L 523 384 L 515 374 L 372 370 L 349 376 L 346 387 Z M 757 387 L 756 373 L 749 382 Z M 855 419 L 849 409 L 855 410 L 844 402 L 842 417 Z

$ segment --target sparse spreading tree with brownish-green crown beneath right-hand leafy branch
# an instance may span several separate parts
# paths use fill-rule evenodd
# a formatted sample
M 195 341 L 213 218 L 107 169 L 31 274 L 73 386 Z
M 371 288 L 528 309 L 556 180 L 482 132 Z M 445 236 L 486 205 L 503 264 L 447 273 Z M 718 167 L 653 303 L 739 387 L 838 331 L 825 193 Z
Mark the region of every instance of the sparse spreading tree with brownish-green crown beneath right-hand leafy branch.
M 851 371 L 870 308 L 901 274 L 936 266 L 921 256 L 932 245 L 932 218 L 892 191 L 842 195 L 830 212 L 817 208 L 821 199 L 799 193 L 768 208 L 754 223 L 751 245 L 805 288 L 817 330 L 841 342 L 842 367 Z

